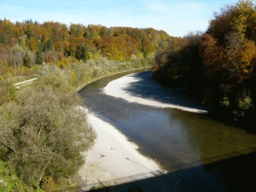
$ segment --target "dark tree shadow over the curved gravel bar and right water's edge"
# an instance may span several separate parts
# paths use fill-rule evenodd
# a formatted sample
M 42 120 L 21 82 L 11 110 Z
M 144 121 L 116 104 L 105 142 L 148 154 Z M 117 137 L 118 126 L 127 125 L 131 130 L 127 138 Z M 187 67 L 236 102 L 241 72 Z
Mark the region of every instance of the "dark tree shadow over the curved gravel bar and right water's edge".
M 205 110 L 209 113 L 204 115 L 203 118 L 223 122 L 227 125 L 244 129 L 249 133 L 256 134 L 256 129 L 251 126 L 251 124 L 254 123 L 252 116 L 255 116 L 256 112 L 251 113 L 251 116 L 247 115 L 249 116 L 247 119 L 244 118 L 240 121 L 234 121 L 234 116 L 228 109 L 223 107 L 218 110 L 213 110 L 206 105 L 202 105 L 197 99 L 189 97 L 188 88 L 186 86 L 165 88 L 161 83 L 154 79 L 151 71 L 132 74 L 132 76 L 140 80 L 130 83 L 129 87 L 124 89 L 124 91 L 129 92 L 133 96 L 154 99 L 163 103 L 185 106 L 187 108 Z

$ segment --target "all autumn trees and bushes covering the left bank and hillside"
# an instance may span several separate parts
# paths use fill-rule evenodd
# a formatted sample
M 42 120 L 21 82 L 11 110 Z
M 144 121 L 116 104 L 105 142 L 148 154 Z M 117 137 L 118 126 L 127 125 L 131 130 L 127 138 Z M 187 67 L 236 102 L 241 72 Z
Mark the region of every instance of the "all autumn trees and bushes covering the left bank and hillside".
M 0 191 L 77 190 L 80 152 L 96 137 L 77 89 L 151 66 L 168 38 L 151 28 L 0 19 Z

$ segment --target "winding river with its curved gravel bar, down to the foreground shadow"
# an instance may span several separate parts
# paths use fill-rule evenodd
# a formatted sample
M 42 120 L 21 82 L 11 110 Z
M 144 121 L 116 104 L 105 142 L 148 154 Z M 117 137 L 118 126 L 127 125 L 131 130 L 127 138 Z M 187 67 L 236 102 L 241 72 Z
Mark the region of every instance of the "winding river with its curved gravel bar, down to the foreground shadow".
M 79 94 L 90 112 L 162 168 L 174 172 L 256 151 L 256 135 L 207 117 L 210 109 L 190 99 L 185 88 L 163 88 L 151 71 L 127 74 L 100 79 Z

